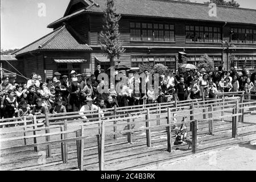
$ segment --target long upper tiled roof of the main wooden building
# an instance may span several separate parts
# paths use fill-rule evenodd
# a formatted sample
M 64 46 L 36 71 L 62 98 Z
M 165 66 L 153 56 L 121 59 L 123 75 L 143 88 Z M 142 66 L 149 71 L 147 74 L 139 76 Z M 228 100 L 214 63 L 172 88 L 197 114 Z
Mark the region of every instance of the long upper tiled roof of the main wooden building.
M 94 0 L 100 7 L 92 6 L 80 13 L 104 13 L 106 0 Z M 256 10 L 239 7 L 217 6 L 217 17 L 209 16 L 209 5 L 203 3 L 181 2 L 172 0 L 116 0 L 116 13 L 127 16 L 147 16 L 156 18 L 175 18 L 187 20 L 203 20 L 211 22 L 256 24 Z M 69 15 L 77 15 L 78 12 Z M 63 17 L 53 23 L 61 22 Z

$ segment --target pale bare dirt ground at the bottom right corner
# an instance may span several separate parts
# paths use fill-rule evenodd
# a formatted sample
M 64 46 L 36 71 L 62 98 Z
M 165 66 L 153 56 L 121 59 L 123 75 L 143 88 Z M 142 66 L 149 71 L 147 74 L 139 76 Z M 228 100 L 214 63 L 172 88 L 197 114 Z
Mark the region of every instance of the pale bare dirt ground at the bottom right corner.
M 139 168 L 141 171 L 256 171 L 256 140 Z

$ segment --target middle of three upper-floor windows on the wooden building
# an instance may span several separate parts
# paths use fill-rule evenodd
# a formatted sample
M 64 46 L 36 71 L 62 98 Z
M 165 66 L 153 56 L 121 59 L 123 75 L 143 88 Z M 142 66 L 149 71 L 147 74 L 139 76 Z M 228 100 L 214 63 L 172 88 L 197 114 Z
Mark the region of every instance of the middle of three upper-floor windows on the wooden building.
M 220 42 L 221 30 L 218 27 L 186 26 L 186 42 Z

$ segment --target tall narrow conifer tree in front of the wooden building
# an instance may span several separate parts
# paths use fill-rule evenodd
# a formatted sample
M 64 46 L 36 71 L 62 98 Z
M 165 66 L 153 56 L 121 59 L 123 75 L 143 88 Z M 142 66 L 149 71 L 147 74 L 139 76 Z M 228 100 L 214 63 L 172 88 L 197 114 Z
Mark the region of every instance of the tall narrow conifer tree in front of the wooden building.
M 125 52 L 125 49 L 119 41 L 118 22 L 121 16 L 115 14 L 114 0 L 108 0 L 106 6 L 105 22 L 103 31 L 100 33 L 101 49 L 105 52 L 105 56 L 108 56 L 110 66 L 113 66 L 115 64 L 114 58 L 117 57 L 119 59 L 119 55 Z

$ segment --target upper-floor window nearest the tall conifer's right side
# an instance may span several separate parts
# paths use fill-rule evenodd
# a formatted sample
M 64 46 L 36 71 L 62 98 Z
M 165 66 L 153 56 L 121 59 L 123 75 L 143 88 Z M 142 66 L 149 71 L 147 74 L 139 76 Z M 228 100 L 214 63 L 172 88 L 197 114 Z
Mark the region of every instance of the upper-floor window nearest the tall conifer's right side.
M 174 25 L 130 22 L 131 40 L 174 42 Z

